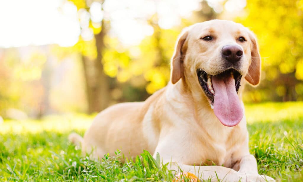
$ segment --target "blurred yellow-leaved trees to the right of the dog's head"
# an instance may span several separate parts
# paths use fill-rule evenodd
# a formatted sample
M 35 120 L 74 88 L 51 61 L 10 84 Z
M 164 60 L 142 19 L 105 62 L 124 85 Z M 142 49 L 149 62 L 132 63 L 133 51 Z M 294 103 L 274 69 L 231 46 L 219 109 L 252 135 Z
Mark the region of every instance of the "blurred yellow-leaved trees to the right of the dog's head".
M 263 81 L 250 88 L 247 101 L 303 100 L 303 1 L 247 1 L 236 20 L 258 37 Z

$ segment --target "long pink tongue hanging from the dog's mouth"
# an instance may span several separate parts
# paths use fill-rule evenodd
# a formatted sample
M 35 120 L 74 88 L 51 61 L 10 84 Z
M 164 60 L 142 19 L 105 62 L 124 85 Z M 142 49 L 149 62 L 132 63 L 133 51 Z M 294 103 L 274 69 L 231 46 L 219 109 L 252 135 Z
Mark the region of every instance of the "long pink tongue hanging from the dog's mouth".
M 225 126 L 236 126 L 243 118 L 243 109 L 231 76 L 212 76 L 215 90 L 214 112 Z

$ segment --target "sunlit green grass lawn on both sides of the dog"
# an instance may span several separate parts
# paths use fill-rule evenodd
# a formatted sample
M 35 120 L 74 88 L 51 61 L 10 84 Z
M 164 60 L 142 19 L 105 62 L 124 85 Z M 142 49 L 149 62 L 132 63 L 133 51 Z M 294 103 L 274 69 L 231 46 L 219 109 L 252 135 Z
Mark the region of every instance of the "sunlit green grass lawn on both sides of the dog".
M 303 102 L 246 105 L 250 151 L 260 174 L 278 181 L 303 181 Z M 160 159 L 142 151 L 142 160 L 123 157 L 94 161 L 68 142 L 84 134 L 93 116 L 64 115 L 41 121 L 0 124 L 0 181 L 171 181 Z M 144 167 L 143 167 L 144 166 Z

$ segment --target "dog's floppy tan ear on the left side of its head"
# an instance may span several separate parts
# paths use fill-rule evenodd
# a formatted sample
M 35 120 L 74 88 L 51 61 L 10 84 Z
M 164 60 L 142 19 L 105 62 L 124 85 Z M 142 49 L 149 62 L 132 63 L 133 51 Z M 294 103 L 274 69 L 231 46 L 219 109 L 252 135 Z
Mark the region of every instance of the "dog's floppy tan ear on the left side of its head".
M 171 83 L 175 84 L 181 79 L 183 74 L 183 59 L 187 46 L 184 44 L 188 35 L 188 29 L 183 29 L 176 42 L 175 52 L 171 58 Z

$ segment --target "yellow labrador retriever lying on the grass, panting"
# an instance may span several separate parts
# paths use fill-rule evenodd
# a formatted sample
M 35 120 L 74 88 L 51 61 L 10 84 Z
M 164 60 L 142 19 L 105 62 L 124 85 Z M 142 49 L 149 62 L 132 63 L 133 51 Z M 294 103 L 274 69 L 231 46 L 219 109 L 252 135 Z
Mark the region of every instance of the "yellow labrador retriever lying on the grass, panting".
M 157 153 L 202 179 L 266 181 L 248 150 L 241 93 L 257 85 L 261 59 L 255 36 L 243 25 L 211 20 L 186 28 L 171 59 L 171 82 L 145 102 L 121 103 L 99 113 L 84 138 L 69 139 L 95 158 L 120 149 Z M 212 166 L 215 163 L 217 166 Z M 203 166 L 199 167 L 202 164 Z M 211 165 L 211 166 L 207 166 Z M 224 167 L 223 167 L 224 166 Z

